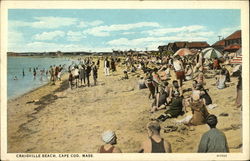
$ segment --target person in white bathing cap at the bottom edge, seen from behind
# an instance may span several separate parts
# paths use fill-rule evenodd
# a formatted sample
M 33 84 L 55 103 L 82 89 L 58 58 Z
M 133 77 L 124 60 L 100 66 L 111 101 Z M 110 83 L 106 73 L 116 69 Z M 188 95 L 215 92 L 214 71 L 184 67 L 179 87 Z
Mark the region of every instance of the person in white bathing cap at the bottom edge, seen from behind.
M 117 137 L 115 132 L 113 131 L 105 131 L 102 133 L 102 140 L 104 141 L 104 145 L 102 145 L 98 149 L 98 153 L 121 153 L 122 151 L 116 147 Z

